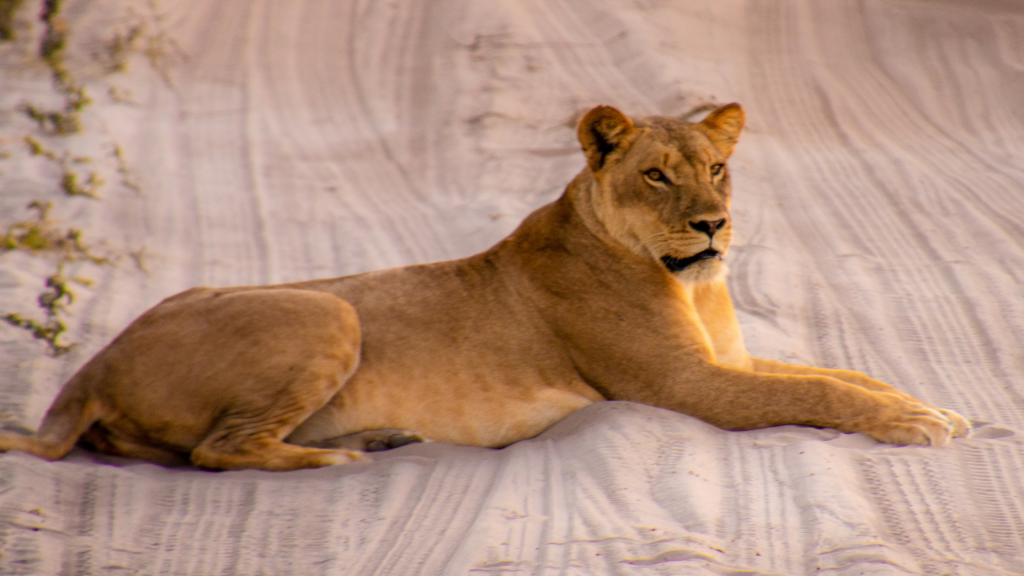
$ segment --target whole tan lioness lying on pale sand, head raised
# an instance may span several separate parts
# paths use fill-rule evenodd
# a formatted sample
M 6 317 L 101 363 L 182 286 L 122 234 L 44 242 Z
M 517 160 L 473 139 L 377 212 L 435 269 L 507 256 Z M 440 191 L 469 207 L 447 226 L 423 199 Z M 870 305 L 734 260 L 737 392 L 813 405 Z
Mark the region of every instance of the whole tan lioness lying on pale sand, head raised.
M 489 250 L 276 286 L 195 288 L 139 317 L 0 450 L 289 470 L 418 440 L 500 447 L 592 402 L 742 430 L 942 446 L 958 414 L 859 372 L 753 358 L 729 298 L 735 104 L 699 123 L 580 122 L 587 166 Z M 396 433 L 396 430 L 413 430 Z M 414 434 L 415 433 L 415 434 Z

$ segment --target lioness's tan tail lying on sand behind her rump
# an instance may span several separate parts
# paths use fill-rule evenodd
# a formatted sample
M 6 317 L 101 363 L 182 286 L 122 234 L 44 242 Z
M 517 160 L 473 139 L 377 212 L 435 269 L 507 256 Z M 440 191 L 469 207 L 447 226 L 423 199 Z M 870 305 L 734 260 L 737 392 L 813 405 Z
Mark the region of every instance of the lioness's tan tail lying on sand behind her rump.
M 71 452 L 79 437 L 101 416 L 100 403 L 92 398 L 79 372 L 65 384 L 35 436 L 0 433 L 0 452 L 17 450 L 47 460 Z

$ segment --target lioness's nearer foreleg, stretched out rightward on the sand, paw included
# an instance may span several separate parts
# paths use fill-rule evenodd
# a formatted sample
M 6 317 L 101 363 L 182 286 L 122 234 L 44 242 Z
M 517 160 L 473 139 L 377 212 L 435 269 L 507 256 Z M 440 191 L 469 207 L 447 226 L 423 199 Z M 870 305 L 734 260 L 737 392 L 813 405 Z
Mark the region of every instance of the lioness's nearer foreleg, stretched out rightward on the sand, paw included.
M 859 431 L 890 444 L 942 446 L 955 425 L 913 399 L 876 392 L 821 375 L 764 374 L 696 367 L 686 381 L 648 388 L 647 404 L 696 416 L 726 429 L 803 424 Z

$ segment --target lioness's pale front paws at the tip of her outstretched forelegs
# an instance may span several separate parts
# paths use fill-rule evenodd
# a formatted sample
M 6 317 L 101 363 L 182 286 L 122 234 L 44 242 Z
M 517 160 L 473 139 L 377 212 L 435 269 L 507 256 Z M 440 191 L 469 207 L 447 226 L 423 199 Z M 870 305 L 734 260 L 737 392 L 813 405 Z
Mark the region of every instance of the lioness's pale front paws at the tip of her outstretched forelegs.
M 885 393 L 883 393 L 885 394 Z M 864 434 L 887 444 L 945 446 L 954 437 L 967 436 L 971 424 L 950 410 L 928 407 L 913 399 L 891 397 L 891 410 Z

